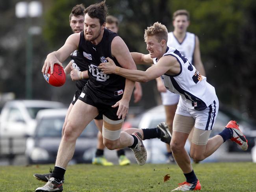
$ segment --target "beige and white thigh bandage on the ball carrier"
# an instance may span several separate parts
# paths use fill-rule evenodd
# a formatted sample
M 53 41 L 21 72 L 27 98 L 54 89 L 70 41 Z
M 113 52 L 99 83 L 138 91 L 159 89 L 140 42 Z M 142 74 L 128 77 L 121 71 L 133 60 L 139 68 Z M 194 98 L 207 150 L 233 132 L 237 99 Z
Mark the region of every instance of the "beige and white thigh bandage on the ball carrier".
M 109 140 L 117 140 L 120 137 L 124 120 L 111 120 L 103 115 L 102 136 Z

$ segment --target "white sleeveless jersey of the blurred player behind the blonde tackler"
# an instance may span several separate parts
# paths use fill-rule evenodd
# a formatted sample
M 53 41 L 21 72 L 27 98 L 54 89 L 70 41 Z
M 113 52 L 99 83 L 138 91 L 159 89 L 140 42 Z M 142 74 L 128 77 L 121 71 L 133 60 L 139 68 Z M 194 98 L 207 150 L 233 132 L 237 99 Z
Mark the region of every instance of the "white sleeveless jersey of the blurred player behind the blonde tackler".
M 167 46 L 176 48 L 191 64 L 194 64 L 193 54 L 195 50 L 195 37 L 194 33 L 186 32 L 184 40 L 180 43 L 173 32 L 170 32 L 168 33 Z

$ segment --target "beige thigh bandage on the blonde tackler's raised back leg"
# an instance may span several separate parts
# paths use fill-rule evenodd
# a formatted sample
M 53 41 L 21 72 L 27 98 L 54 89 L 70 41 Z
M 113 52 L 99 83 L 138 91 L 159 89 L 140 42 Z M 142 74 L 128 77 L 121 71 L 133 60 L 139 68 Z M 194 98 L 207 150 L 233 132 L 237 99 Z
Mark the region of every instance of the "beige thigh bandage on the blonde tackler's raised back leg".
M 210 137 L 211 130 L 195 128 L 192 137 L 192 143 L 197 145 L 206 145 Z

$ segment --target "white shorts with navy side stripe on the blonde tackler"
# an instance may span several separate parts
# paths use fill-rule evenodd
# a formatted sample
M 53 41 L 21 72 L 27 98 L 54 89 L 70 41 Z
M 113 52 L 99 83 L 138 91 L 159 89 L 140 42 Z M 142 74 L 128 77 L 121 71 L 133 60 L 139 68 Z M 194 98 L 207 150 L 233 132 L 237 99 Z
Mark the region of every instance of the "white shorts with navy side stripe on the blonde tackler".
M 195 119 L 195 127 L 203 130 L 211 130 L 215 124 L 215 120 L 219 111 L 219 100 L 215 100 L 206 109 L 198 111 L 190 109 L 186 106 L 185 101 L 180 99 L 176 114 L 191 116 Z

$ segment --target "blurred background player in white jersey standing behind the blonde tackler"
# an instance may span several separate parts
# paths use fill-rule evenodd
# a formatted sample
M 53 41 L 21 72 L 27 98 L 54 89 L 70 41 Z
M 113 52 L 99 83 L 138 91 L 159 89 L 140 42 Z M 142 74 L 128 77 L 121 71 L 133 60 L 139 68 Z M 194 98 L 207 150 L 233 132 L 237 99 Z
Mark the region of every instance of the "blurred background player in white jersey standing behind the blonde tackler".
M 174 47 L 179 52 L 184 55 L 187 60 L 195 66 L 195 68 L 200 72 L 201 75 L 205 75 L 204 66 L 201 61 L 200 56 L 200 46 L 199 39 L 197 35 L 187 32 L 187 28 L 190 24 L 189 12 L 187 10 L 181 9 L 173 13 L 173 27 L 174 30 L 168 33 L 167 46 Z M 167 91 L 161 78 L 156 79 L 158 91 L 161 93 L 162 103 L 165 107 L 166 123 L 173 132 L 173 118 L 175 111 L 177 109 L 177 104 L 180 96 Z M 191 142 L 191 136 L 189 135 L 189 141 Z M 167 157 L 169 161 L 174 161 L 173 155 L 171 153 L 170 145 L 167 147 Z

